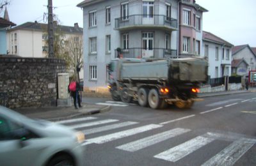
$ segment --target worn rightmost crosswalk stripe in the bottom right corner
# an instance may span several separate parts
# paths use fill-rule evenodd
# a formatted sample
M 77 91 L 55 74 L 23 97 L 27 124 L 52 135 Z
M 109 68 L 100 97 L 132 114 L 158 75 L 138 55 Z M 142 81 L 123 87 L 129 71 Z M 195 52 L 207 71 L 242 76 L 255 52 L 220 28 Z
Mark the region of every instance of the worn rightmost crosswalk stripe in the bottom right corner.
M 251 139 L 239 139 L 223 149 L 220 153 L 205 162 L 203 166 L 209 165 L 234 165 L 241 156 L 248 151 L 255 142 Z

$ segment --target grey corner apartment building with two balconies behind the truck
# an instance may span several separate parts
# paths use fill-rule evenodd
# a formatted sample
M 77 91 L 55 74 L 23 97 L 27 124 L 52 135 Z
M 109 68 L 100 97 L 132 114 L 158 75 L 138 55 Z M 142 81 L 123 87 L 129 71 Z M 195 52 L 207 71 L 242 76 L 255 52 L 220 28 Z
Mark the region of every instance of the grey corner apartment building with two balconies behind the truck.
M 177 57 L 178 1 L 86 0 L 84 87 L 105 88 L 108 63 L 116 57 Z

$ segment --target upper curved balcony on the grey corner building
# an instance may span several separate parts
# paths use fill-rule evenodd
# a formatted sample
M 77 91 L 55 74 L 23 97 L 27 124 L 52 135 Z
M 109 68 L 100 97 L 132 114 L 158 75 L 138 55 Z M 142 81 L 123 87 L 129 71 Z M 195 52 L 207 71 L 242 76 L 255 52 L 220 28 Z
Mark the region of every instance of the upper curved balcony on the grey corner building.
M 115 19 L 115 29 L 117 30 L 125 31 L 137 28 L 177 31 L 177 20 L 165 15 L 129 15 Z

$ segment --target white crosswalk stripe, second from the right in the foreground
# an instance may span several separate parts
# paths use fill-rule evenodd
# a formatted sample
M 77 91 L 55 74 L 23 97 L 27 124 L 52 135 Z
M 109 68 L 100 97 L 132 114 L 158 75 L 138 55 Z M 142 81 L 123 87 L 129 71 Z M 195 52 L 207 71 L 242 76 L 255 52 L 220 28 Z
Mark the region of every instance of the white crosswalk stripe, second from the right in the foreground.
M 194 139 L 188 140 L 187 142 L 184 142 L 183 144 L 180 144 L 179 146 L 175 146 L 171 149 L 168 149 L 167 151 L 164 151 L 163 153 L 159 153 L 158 155 L 155 155 L 155 158 L 160 158 L 163 160 L 167 160 L 170 162 L 177 162 L 181 158 L 184 158 L 184 156 L 189 155 L 190 153 L 193 153 L 193 151 L 196 151 L 200 147 L 205 146 L 206 144 L 209 144 L 214 139 L 211 138 L 205 138 L 202 136 L 195 137 Z

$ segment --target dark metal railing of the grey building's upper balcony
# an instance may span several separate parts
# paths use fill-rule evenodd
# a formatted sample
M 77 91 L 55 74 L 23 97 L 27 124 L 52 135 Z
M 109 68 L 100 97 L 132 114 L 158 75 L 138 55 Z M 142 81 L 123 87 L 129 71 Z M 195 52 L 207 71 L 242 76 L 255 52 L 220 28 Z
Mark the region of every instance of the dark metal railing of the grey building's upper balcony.
M 129 15 L 115 19 L 115 28 L 129 26 L 168 26 L 177 28 L 177 19 L 166 15 Z

